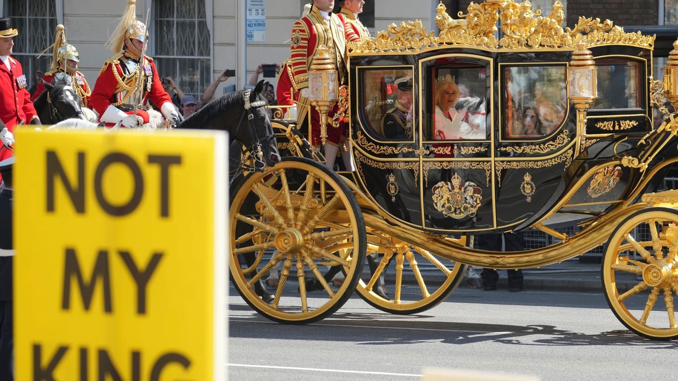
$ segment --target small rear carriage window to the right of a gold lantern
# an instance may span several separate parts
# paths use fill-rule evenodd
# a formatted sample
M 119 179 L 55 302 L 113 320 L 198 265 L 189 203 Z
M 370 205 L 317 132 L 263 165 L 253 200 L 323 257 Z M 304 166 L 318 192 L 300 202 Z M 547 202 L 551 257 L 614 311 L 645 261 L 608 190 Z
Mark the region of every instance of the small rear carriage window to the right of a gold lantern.
M 641 98 L 638 96 L 641 66 L 639 62 L 624 58 L 599 58 L 598 99 L 595 108 L 638 108 Z

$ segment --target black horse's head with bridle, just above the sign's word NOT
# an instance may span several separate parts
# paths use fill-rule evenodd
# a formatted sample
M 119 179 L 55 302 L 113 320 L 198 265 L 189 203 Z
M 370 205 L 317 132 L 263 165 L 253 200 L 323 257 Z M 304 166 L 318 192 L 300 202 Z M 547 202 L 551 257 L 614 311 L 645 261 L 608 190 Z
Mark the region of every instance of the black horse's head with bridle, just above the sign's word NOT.
M 75 92 L 71 77 L 55 79 L 54 83 L 43 81 L 47 89 L 33 101 L 35 111 L 43 124 L 56 124 L 66 119 L 85 119 L 82 98 Z

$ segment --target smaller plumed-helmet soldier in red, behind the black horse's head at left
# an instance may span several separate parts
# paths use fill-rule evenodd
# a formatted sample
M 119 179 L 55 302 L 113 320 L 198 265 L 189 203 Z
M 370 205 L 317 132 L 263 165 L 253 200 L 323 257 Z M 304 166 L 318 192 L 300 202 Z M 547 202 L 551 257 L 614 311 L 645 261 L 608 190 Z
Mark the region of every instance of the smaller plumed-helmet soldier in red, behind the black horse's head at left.
M 53 48 L 52 66 L 45 73 L 42 81 L 38 82 L 31 99 L 35 101 L 45 91 L 43 82 L 54 83 L 55 78 L 59 79 L 67 75 L 71 77 L 71 84 L 75 93 L 82 98 L 82 105 L 88 107 L 89 96 L 92 94 L 92 90 L 89 89 L 89 83 L 87 83 L 83 73 L 78 71 L 78 62 L 80 62 L 78 51 L 75 49 L 75 46 L 66 43 L 66 31 L 62 24 L 56 26 L 56 39 L 50 47 Z M 43 53 L 47 52 L 47 50 L 49 50 L 49 47 Z

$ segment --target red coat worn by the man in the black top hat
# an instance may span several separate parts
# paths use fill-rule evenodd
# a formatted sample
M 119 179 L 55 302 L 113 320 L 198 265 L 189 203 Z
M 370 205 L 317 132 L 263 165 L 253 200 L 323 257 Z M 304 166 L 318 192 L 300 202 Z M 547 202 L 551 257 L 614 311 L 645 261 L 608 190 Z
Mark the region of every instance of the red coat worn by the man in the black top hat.
M 7 70 L 5 62 L 0 60 L 0 119 L 5 123 L 9 132 L 14 132 L 14 127 L 24 121 L 31 123 L 36 119 L 37 113 L 31 94 L 26 89 L 26 76 L 20 62 L 8 57 L 12 71 Z M 12 156 L 8 149 L 0 150 L 0 161 Z

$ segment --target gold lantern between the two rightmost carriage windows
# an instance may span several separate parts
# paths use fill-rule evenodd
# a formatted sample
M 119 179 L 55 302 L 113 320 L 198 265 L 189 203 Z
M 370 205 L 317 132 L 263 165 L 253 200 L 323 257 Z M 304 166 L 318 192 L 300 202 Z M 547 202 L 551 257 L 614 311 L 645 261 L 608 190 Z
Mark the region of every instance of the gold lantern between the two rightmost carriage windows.
M 591 50 L 586 49 L 583 39 L 577 43 L 567 72 L 570 102 L 577 109 L 577 134 L 584 137 L 586 136 L 586 111 L 598 98 L 598 68 L 595 66 Z

